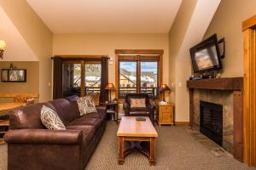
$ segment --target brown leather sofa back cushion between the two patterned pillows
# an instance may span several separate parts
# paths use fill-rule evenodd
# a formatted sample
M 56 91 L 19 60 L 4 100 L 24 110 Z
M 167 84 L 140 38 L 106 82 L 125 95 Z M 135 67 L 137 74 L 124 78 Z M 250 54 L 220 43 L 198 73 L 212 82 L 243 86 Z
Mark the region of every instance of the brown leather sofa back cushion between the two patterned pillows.
M 55 99 L 48 103 L 55 107 L 56 113 L 61 118 L 64 125 L 67 125 L 68 122 L 72 122 L 77 117 L 76 112 L 73 111 L 73 107 L 67 99 Z

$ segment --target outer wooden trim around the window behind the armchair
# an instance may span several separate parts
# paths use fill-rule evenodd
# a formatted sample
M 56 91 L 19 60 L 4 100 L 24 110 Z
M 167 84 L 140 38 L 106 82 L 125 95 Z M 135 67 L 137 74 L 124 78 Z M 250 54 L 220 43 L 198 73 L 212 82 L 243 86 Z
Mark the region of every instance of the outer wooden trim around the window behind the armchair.
M 126 54 L 126 55 L 125 55 Z M 151 54 L 151 55 L 150 55 Z M 163 49 L 116 49 L 115 50 L 115 96 L 119 99 L 119 60 L 159 60 L 159 84 L 163 82 Z M 140 55 L 140 56 L 137 56 Z M 143 56 L 142 56 L 143 55 Z M 160 96 L 159 96 L 160 97 Z M 123 99 L 119 99 L 122 102 Z

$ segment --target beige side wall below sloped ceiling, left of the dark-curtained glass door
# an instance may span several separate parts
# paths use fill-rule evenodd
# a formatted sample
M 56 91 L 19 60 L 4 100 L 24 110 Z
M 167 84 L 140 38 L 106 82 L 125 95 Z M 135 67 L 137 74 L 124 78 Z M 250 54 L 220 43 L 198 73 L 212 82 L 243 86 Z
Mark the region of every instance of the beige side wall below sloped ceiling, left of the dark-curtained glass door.
M 0 5 L 39 60 L 40 101 L 51 99 L 52 33 L 25 0 L 0 0 Z M 15 49 L 13 49 L 15 50 Z

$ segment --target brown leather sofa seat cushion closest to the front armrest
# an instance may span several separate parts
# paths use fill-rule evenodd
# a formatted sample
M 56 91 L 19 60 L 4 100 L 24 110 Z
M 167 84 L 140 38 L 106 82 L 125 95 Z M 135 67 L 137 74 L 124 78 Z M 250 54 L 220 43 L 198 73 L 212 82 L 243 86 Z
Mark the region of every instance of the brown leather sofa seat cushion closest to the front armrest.
M 94 137 L 96 131 L 95 128 L 89 125 L 71 125 L 67 129 L 81 130 L 83 133 L 83 148 L 85 149 Z

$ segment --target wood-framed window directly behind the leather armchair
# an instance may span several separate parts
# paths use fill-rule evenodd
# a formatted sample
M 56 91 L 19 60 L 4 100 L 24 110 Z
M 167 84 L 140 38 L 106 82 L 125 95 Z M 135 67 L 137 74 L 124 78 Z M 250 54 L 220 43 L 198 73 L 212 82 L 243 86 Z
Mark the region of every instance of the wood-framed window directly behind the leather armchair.
M 148 94 L 159 97 L 160 55 L 119 55 L 119 98 L 126 94 Z

